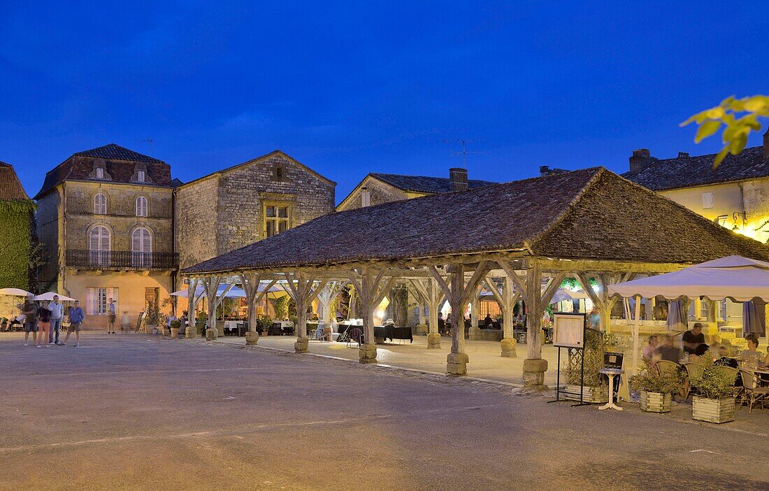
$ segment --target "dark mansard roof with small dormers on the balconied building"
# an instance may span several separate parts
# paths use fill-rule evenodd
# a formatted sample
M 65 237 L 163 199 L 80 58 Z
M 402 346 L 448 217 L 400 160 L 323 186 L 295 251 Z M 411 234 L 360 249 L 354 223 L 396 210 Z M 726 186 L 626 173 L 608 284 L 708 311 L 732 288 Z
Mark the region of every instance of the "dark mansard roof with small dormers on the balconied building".
M 108 175 L 112 178 L 108 182 L 131 182 L 131 175 L 135 172 L 135 163 L 141 162 L 147 167 L 147 175 L 151 179 L 151 185 L 171 185 L 171 167 L 162 160 L 153 159 L 148 155 L 134 152 L 120 145 L 110 143 L 98 147 L 98 149 L 73 153 L 72 156 L 51 169 L 45 174 L 42 188 L 35 195 L 35 199 L 42 197 L 51 191 L 56 185 L 67 180 L 83 181 L 93 171 L 95 159 L 105 161 Z

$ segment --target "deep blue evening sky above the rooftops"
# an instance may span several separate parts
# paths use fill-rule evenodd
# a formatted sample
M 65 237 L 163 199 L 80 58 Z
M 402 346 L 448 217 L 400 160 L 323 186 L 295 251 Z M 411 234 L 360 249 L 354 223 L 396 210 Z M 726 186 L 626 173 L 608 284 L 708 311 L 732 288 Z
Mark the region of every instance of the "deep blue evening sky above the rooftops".
M 716 151 L 678 123 L 769 92 L 767 2 L 111 3 L 0 5 L 0 160 L 30 195 L 109 142 L 184 181 L 282 149 L 337 201 L 368 172 L 448 175 L 444 139 L 479 140 L 471 178 L 624 172 Z

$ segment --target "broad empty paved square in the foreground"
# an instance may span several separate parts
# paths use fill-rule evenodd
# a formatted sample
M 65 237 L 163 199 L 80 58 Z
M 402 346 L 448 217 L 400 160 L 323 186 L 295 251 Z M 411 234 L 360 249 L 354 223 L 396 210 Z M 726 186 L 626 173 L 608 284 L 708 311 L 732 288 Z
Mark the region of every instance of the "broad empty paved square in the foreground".
M 599 413 L 499 384 L 199 340 L 84 337 L 82 348 L 35 349 L 0 336 L 0 489 L 750 490 L 769 480 L 766 435 L 741 422 Z

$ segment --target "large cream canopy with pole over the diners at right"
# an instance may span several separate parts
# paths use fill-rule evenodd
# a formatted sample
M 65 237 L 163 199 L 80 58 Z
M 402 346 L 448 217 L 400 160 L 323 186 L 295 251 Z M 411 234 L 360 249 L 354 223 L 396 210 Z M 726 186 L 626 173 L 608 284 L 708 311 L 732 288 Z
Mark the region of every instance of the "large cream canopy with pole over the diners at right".
M 668 300 L 677 300 L 684 297 L 705 297 L 711 300 L 729 298 L 734 302 L 749 302 L 752 299 L 769 302 L 769 262 L 741 256 L 726 256 L 664 275 L 609 285 L 609 294 L 625 298 L 634 296 L 651 299 L 663 296 Z M 641 302 L 636 302 L 633 329 L 634 373 L 638 366 L 640 305 Z

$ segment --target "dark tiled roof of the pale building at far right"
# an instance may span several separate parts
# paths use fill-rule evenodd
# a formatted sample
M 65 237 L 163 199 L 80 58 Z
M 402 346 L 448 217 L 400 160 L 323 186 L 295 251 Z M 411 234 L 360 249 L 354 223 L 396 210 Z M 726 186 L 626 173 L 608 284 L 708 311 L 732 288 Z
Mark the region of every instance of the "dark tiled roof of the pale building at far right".
M 763 146 L 728 155 L 718 169 L 713 169 L 714 158 L 714 154 L 694 157 L 683 154 L 674 159 L 651 158 L 651 164 L 641 172 L 625 172 L 622 176 L 653 191 L 769 177 L 769 160 L 764 160 Z

